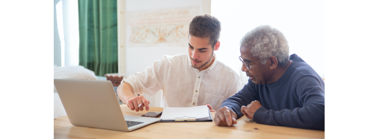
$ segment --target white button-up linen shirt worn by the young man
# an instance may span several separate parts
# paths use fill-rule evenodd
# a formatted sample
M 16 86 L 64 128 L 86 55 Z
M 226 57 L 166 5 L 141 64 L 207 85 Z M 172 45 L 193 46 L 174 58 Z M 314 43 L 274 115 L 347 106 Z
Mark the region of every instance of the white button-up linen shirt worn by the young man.
M 211 104 L 217 111 L 223 101 L 241 89 L 240 76 L 215 58 L 199 72 L 188 54 L 164 55 L 143 72 L 125 76 L 134 95 L 154 95 L 162 89 L 161 107 L 194 107 Z

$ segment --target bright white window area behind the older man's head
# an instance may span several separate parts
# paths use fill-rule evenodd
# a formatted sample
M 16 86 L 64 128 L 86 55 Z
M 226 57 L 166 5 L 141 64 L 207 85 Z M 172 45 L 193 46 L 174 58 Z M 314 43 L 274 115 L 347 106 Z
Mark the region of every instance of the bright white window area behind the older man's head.
M 290 55 L 296 53 L 325 78 L 324 0 L 212 0 L 211 14 L 222 23 L 218 60 L 241 71 L 240 39 L 253 28 L 270 25 L 284 33 Z

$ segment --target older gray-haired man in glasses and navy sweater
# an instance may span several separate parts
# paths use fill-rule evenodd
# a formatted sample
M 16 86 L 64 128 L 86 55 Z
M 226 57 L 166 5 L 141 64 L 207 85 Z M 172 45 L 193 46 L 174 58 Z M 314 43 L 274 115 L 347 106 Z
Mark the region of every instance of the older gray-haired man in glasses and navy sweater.
M 242 38 L 240 53 L 248 84 L 223 102 L 217 126 L 245 115 L 259 124 L 325 130 L 324 82 L 298 55 L 288 56 L 283 33 L 258 26 Z

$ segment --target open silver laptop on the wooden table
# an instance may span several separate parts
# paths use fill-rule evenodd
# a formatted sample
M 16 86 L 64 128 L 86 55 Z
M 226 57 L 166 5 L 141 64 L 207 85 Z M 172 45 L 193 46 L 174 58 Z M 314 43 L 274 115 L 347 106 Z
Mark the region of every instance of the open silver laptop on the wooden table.
M 110 81 L 53 79 L 71 124 L 132 131 L 160 118 L 122 115 Z

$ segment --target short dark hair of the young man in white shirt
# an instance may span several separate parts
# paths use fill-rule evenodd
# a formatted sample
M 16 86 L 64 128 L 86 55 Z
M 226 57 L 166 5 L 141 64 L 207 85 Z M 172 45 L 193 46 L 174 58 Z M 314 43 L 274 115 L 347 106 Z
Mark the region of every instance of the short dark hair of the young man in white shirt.
M 198 15 L 189 23 L 189 35 L 199 38 L 209 38 L 214 48 L 220 38 L 221 23 L 212 15 Z

